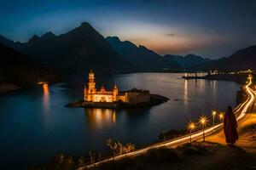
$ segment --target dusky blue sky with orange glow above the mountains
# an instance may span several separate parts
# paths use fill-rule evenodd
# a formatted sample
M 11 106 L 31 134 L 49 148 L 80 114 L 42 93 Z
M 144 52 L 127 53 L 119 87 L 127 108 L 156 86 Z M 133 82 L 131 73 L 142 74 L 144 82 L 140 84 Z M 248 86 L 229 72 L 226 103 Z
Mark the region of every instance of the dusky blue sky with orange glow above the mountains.
M 75 3 L 74 3 L 75 2 Z M 15 41 L 87 21 L 159 54 L 230 55 L 256 44 L 256 1 L 0 0 L 0 34 Z

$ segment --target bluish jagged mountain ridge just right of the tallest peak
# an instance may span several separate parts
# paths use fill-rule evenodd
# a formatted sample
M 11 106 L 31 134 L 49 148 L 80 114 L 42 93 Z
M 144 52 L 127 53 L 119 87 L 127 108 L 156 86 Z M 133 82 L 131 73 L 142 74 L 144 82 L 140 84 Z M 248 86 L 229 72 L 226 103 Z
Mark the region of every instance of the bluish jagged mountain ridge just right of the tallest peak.
M 179 66 L 164 59 L 154 51 L 140 45 L 137 47 L 129 41 L 120 41 L 119 37 L 106 37 L 113 49 L 124 59 L 135 65 L 137 71 L 162 71 L 163 69 L 175 70 Z

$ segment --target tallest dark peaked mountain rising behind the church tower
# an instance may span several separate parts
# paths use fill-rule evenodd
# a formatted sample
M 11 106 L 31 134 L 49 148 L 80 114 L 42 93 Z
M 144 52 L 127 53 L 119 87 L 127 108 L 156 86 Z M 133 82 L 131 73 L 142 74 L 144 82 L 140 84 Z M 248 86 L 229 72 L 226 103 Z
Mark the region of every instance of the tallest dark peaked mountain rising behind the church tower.
M 15 49 L 67 74 L 84 75 L 93 69 L 97 76 L 107 77 L 132 69 L 132 65 L 86 22 L 59 36 L 52 32 L 41 37 L 34 35 Z

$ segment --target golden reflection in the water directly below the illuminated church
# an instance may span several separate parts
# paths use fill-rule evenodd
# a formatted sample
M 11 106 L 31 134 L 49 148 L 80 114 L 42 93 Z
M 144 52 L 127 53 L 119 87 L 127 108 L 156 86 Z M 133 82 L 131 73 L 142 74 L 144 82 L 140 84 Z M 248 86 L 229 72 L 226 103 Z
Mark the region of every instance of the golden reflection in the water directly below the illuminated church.
M 84 114 L 89 122 L 89 127 L 92 128 L 108 127 L 116 122 L 115 110 L 85 108 Z

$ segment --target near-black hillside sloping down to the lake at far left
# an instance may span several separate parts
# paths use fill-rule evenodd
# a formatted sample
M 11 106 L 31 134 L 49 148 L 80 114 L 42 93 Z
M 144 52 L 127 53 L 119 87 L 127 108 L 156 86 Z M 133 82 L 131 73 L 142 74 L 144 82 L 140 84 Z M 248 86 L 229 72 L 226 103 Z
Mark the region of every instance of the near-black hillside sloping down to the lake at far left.
M 36 84 L 38 81 L 55 82 L 59 76 L 48 67 L 29 59 L 13 48 L 0 43 L 0 82 L 18 86 Z

